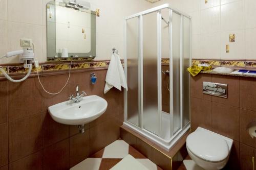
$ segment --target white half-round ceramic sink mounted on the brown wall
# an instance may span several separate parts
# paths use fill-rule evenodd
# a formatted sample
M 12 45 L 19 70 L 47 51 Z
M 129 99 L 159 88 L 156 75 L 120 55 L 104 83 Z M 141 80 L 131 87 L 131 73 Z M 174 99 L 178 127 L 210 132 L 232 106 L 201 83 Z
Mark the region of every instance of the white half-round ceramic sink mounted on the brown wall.
M 105 111 L 108 103 L 97 95 L 85 96 L 80 102 L 62 102 L 48 108 L 52 118 L 66 125 L 84 125 L 92 122 Z

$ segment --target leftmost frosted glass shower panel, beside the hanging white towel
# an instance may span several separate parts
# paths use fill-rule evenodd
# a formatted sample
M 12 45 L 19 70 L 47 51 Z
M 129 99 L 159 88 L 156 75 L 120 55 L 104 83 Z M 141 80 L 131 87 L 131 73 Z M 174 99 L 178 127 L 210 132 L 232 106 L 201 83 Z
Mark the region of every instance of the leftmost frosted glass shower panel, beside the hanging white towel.
M 126 21 L 127 120 L 139 126 L 139 27 L 138 17 Z

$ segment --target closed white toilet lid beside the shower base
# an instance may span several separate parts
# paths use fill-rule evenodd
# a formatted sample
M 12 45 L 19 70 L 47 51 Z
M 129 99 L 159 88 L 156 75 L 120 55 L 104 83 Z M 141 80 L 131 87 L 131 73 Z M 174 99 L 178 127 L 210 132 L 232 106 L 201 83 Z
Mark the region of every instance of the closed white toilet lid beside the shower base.
M 229 154 L 226 140 L 207 131 L 195 131 L 189 134 L 186 144 L 194 155 L 210 162 L 220 162 Z

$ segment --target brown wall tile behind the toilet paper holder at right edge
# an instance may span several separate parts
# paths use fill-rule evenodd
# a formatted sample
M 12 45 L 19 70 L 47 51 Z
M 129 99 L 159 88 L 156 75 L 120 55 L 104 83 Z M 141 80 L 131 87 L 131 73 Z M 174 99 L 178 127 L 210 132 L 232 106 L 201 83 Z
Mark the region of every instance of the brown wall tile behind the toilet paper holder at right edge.
M 256 121 L 256 112 L 240 109 L 240 142 L 256 148 L 256 139 L 252 139 L 246 129 L 252 121 Z

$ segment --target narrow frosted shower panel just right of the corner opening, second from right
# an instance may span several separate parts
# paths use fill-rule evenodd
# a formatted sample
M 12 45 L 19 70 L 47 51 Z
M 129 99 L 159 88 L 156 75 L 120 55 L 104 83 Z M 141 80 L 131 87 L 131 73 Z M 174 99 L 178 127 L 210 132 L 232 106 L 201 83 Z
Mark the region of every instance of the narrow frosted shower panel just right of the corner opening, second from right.
M 180 120 L 180 23 L 181 16 L 173 13 L 173 133 L 177 132 L 181 125 Z

